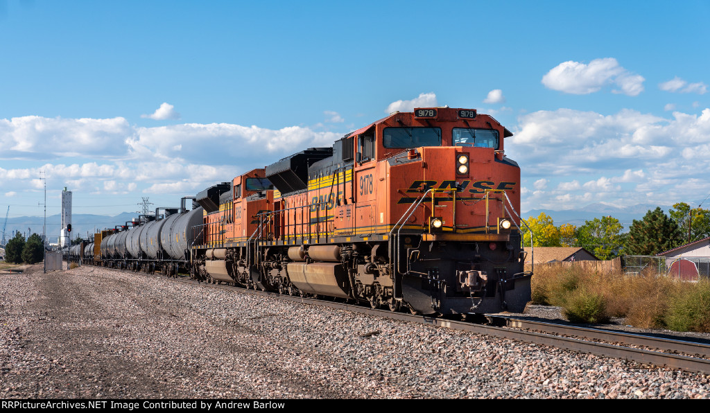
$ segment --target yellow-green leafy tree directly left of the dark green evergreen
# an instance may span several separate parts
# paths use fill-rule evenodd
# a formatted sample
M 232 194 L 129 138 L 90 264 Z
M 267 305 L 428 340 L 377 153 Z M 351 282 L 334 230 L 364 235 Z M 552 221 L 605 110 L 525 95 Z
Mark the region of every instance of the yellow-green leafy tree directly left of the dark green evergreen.
M 577 229 L 577 246 L 591 251 L 600 260 L 616 258 L 623 246 L 623 225 L 611 216 L 585 221 Z

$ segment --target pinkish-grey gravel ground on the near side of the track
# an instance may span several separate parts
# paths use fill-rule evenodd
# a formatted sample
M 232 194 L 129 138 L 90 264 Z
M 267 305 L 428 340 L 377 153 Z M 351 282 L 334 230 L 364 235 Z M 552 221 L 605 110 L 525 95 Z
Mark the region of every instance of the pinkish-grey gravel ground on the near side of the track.
M 84 265 L 0 274 L 0 399 L 708 398 L 709 377 Z

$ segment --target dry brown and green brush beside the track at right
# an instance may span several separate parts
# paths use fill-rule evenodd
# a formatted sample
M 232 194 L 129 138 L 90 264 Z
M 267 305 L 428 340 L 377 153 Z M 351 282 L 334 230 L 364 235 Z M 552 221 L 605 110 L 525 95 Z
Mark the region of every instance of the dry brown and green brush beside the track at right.
M 579 323 L 624 317 L 626 324 L 640 328 L 710 332 L 710 280 L 541 265 L 532 277 L 532 303 L 562 307 L 569 321 Z

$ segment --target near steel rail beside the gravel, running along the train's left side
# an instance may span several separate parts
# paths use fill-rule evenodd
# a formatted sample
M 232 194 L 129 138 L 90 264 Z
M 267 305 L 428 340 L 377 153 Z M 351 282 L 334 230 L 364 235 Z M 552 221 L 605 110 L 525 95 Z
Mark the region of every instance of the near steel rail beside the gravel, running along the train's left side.
M 122 270 L 119 270 L 122 271 Z M 151 275 L 148 275 L 151 276 Z M 161 276 L 160 274 L 155 274 L 153 276 Z M 307 298 L 307 297 L 295 297 L 290 295 L 278 294 L 276 292 L 265 292 L 257 290 L 246 290 L 241 287 L 235 287 L 231 285 L 213 285 L 203 282 L 197 282 L 196 280 L 191 280 L 187 277 L 177 277 L 173 280 L 178 280 L 180 282 L 186 282 L 189 284 L 205 285 L 207 287 L 214 287 L 225 290 L 236 290 L 241 292 L 246 292 L 248 294 L 261 295 L 263 297 L 279 298 L 290 302 L 300 302 L 302 304 L 312 304 L 320 305 L 324 307 L 330 307 L 334 309 L 343 309 L 346 311 L 357 312 L 360 314 L 368 314 L 373 316 L 381 316 L 387 319 L 395 319 L 399 321 L 413 322 L 417 324 L 426 324 L 430 326 L 437 327 L 447 327 L 449 329 L 456 329 L 460 331 L 469 331 L 475 334 L 481 334 L 484 336 L 493 336 L 499 338 L 508 338 L 515 341 L 523 341 L 525 343 L 532 343 L 542 346 L 550 346 L 555 348 L 561 348 L 563 350 L 577 351 L 581 353 L 594 354 L 596 356 L 608 357 L 608 358 L 619 358 L 622 360 L 633 361 L 640 364 L 655 365 L 659 367 L 666 368 L 677 368 L 680 370 L 685 370 L 694 373 L 702 373 L 710 375 L 710 359 L 706 358 L 694 358 L 689 356 L 682 356 L 674 353 L 662 353 L 660 351 L 650 351 L 641 348 L 630 348 L 624 346 L 618 346 L 615 344 L 599 343 L 596 341 L 581 340 L 579 338 L 570 338 L 565 336 L 557 336 L 555 334 L 540 333 L 527 330 L 511 329 L 508 327 L 497 327 L 488 326 L 483 324 L 473 324 L 468 321 L 454 321 L 448 319 L 439 319 L 431 316 L 421 316 L 415 314 L 405 314 L 401 312 L 391 312 L 383 309 L 371 309 L 363 307 L 358 304 L 349 304 L 343 302 L 327 301 L 322 299 Z M 518 320 L 516 320 L 518 321 Z M 541 323 L 542 324 L 542 323 Z M 578 329 L 583 329 L 579 327 Z M 590 333 L 591 334 L 591 333 Z M 623 333 L 618 333 L 623 334 Z M 636 335 L 638 336 L 638 335 Z M 644 346 L 651 347 L 648 343 L 643 344 Z M 701 345 L 702 347 L 702 345 Z M 684 351 L 686 353 L 698 353 L 698 351 Z

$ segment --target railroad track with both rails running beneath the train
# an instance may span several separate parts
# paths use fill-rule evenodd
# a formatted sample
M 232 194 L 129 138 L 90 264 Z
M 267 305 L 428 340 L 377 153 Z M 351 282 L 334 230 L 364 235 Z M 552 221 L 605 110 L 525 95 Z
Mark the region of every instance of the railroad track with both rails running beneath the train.
M 164 277 L 160 274 L 155 274 L 154 276 Z M 383 309 L 371 309 L 358 304 L 348 304 L 332 300 L 294 297 L 275 292 L 246 290 L 242 287 L 231 285 L 207 284 L 205 282 L 191 280 L 188 277 L 174 277 L 173 279 L 179 282 L 204 285 L 206 287 L 239 290 L 248 294 L 284 299 L 290 302 L 344 309 L 360 314 L 370 314 L 386 317 L 388 319 L 470 331 L 476 334 L 510 338 L 511 340 L 552 346 L 581 353 L 590 353 L 596 356 L 621 358 L 646 365 L 677 368 L 689 372 L 710 375 L 710 345 L 707 343 L 660 338 L 643 334 L 631 334 L 606 329 L 570 326 L 566 324 L 545 323 L 512 316 L 488 317 L 489 321 L 498 325 L 479 324 L 471 321 L 457 321 L 406 314 L 403 312 L 391 312 Z

